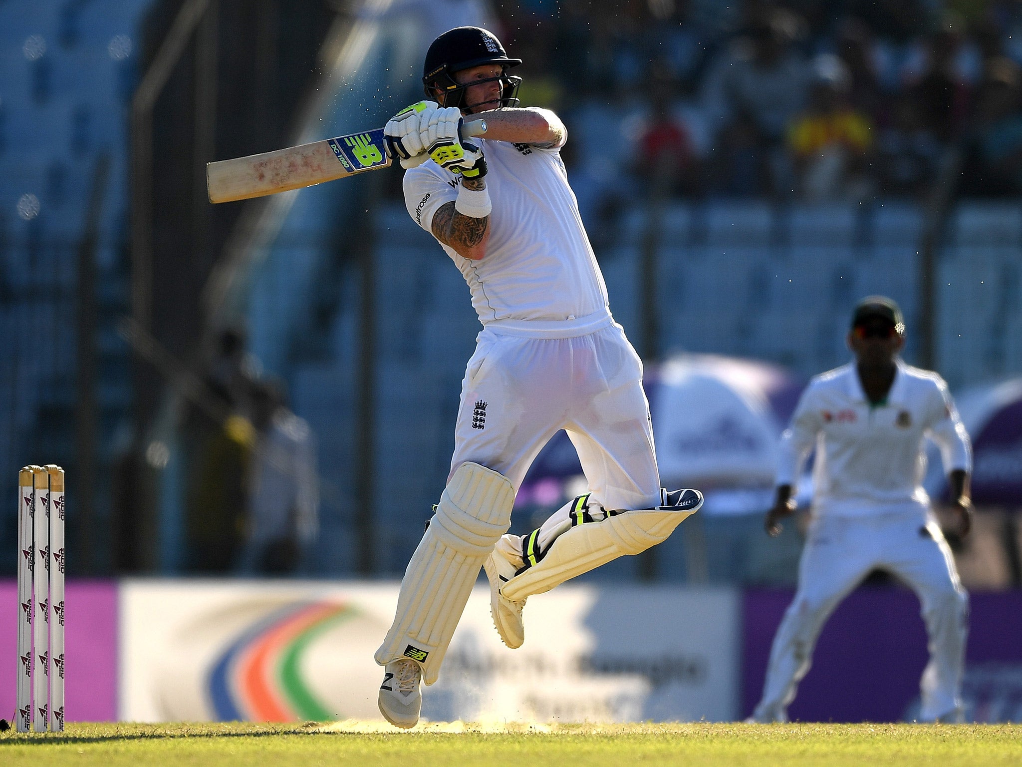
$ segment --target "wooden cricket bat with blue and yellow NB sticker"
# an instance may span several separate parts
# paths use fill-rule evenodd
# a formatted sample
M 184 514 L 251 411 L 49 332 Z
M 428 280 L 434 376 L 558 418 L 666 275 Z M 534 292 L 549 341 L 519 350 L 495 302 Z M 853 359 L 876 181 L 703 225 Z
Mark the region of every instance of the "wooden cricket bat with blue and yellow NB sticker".
M 473 120 L 461 127 L 462 138 L 481 136 L 485 132 L 484 120 Z M 390 154 L 383 129 L 377 128 L 247 157 L 207 163 L 205 185 L 211 202 L 250 199 L 389 168 Z

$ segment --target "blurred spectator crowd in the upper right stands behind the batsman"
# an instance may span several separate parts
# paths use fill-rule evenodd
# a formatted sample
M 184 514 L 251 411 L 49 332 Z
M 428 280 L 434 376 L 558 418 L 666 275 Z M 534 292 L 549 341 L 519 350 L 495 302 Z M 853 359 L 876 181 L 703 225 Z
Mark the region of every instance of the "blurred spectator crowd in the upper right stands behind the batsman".
M 633 196 L 1022 193 L 1019 0 L 498 3 L 585 208 Z M 579 183 L 582 181 L 582 183 Z M 611 194 L 612 196 L 612 194 Z

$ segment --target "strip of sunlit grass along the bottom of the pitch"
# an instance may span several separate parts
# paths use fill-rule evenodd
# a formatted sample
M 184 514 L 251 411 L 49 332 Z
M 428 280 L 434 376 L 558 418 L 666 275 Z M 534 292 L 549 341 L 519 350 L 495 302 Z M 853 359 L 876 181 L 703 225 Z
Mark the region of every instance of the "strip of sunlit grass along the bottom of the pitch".
M 69 724 L 63 734 L 0 734 L 2 765 L 1022 764 L 1022 725 L 375 723 Z

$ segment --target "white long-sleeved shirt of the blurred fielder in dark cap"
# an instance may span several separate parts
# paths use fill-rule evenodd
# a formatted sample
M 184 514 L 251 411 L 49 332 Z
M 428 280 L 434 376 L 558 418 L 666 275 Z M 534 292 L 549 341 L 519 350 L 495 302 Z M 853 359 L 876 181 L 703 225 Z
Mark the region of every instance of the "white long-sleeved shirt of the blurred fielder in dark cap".
M 816 376 L 802 393 L 781 437 L 777 484 L 794 486 L 816 446 L 815 513 L 862 515 L 907 504 L 925 513 L 926 438 L 940 448 L 945 471 L 972 470 L 969 435 L 939 375 L 898 360 L 887 399 L 872 405 L 851 362 Z

